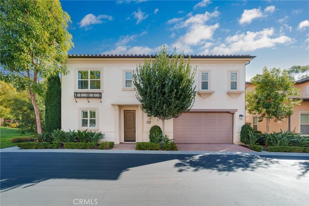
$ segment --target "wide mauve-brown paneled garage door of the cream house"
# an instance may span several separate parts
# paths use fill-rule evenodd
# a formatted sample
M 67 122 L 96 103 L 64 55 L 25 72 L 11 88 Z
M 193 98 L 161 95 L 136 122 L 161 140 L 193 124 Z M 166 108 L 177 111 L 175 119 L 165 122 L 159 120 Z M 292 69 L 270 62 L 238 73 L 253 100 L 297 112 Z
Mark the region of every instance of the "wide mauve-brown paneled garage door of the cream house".
M 232 143 L 233 114 L 185 112 L 173 120 L 176 143 Z

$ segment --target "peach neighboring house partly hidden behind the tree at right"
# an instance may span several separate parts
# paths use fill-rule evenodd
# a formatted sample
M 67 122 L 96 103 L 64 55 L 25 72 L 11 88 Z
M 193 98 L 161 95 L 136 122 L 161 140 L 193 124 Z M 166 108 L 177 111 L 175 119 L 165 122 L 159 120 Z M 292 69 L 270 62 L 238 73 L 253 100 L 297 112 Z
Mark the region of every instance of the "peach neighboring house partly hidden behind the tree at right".
M 295 82 L 295 87 L 300 88 L 300 96 L 302 99 L 300 105 L 294 107 L 293 115 L 282 121 L 274 122 L 270 120 L 269 132 L 280 132 L 282 130 L 294 130 L 295 132 L 303 132 L 303 135 L 309 136 L 309 77 L 303 78 Z M 254 89 L 254 85 L 246 82 L 246 91 Z M 258 121 L 258 115 L 248 114 L 246 110 L 246 124 L 250 124 L 255 130 L 266 132 L 266 119 L 262 122 Z

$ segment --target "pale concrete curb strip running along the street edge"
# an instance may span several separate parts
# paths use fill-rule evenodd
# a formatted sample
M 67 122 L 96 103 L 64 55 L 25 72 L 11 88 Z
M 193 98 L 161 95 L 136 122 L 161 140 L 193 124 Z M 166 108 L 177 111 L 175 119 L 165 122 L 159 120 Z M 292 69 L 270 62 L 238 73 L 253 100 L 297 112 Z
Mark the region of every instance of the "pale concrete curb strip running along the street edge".
M 288 152 L 214 152 L 214 151 L 145 151 L 145 150 L 104 150 L 104 149 L 19 149 L 8 147 L 0 152 L 64 152 L 64 153 L 126 153 L 126 154 L 211 154 L 211 155 L 272 155 L 272 156 L 301 156 L 309 157 L 309 153 Z

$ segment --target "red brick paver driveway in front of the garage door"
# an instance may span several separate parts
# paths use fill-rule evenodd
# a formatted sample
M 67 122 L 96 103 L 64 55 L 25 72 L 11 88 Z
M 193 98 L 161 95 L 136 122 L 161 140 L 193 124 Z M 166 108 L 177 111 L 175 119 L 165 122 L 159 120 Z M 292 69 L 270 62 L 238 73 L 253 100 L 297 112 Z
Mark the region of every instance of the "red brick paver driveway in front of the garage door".
M 181 144 L 177 143 L 179 151 L 224 151 L 224 152 L 254 152 L 251 149 L 234 144 Z

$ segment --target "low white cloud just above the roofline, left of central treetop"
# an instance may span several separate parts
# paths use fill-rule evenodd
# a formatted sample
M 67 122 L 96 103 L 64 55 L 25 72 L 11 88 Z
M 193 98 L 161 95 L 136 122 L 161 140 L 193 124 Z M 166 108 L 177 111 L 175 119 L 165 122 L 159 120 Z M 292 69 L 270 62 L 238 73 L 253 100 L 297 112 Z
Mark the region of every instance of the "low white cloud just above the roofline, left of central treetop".
M 154 52 L 155 50 L 153 48 L 146 46 L 118 46 L 115 49 L 102 52 L 101 54 L 151 54 Z

